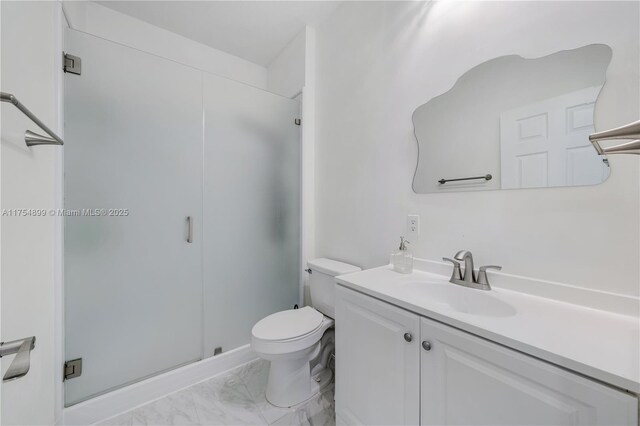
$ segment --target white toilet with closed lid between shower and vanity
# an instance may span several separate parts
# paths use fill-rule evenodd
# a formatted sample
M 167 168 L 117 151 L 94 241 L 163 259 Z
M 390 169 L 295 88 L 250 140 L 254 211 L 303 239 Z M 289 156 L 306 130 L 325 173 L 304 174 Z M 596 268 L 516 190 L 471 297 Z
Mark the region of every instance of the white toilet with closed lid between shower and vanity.
M 327 364 L 334 349 L 335 277 L 360 271 L 357 266 L 324 258 L 307 265 L 313 308 L 276 312 L 251 330 L 251 348 L 271 362 L 267 401 L 278 407 L 299 404 L 331 383 Z

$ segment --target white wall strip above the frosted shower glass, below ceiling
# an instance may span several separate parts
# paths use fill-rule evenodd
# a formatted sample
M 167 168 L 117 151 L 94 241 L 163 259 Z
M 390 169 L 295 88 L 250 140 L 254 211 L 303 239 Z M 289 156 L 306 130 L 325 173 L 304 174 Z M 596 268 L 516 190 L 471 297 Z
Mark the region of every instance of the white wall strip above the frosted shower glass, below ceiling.
M 89 1 L 66 1 L 71 28 L 266 89 L 265 67 Z M 69 52 L 73 54 L 73 52 Z M 126 66 L 126 64 L 123 64 Z

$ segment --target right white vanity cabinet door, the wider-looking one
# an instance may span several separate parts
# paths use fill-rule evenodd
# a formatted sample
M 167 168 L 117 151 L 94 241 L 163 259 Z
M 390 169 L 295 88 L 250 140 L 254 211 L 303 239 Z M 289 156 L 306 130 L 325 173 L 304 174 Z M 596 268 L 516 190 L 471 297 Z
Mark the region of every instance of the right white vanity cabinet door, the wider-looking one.
M 420 328 L 423 425 L 638 424 L 625 392 L 432 320 Z

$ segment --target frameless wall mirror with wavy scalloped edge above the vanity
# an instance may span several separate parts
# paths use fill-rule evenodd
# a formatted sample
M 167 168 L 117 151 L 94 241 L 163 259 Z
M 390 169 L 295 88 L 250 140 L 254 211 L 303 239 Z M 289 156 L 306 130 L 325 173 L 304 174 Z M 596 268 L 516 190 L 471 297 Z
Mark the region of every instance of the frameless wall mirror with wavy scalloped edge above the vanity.
M 588 136 L 612 50 L 501 56 L 413 113 L 417 193 L 597 185 L 609 176 Z

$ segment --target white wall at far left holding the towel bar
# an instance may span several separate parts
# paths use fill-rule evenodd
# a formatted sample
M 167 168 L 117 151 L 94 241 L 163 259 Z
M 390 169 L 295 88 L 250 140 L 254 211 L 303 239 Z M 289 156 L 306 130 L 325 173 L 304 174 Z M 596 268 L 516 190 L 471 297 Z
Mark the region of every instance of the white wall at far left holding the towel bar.
M 1 3 L 3 91 L 15 94 L 43 122 L 58 120 L 60 5 L 57 2 Z M 25 31 L 28 28 L 28 31 Z M 2 104 L 2 209 L 54 207 L 55 159 L 60 147 L 27 148 L 26 129 L 39 131 L 13 105 Z M 56 412 L 54 333 L 55 219 L 3 216 L 1 226 L 2 340 L 36 336 L 29 373 L 2 383 L 3 425 L 53 424 Z M 2 359 L 2 374 L 13 356 Z

